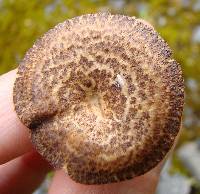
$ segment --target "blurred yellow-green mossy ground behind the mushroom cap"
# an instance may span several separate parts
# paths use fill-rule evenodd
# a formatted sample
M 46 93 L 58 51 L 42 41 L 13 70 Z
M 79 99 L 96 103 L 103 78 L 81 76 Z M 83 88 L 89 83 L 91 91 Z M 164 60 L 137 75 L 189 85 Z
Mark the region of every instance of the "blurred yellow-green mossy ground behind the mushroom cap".
M 17 67 L 33 42 L 57 23 L 107 10 L 146 19 L 169 43 L 186 85 L 179 145 L 200 137 L 199 0 L 0 0 L 0 74 Z M 175 169 L 184 172 L 177 164 Z

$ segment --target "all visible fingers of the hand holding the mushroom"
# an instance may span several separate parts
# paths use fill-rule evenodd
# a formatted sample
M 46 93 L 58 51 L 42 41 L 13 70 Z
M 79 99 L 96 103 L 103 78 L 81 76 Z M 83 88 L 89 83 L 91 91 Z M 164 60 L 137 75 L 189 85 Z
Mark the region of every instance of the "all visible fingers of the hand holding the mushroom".
M 12 102 L 16 70 L 0 76 L 0 193 L 29 194 L 52 170 L 34 150 L 28 129 L 19 121 Z M 163 162 L 145 175 L 106 185 L 83 185 L 56 171 L 49 194 L 153 194 Z

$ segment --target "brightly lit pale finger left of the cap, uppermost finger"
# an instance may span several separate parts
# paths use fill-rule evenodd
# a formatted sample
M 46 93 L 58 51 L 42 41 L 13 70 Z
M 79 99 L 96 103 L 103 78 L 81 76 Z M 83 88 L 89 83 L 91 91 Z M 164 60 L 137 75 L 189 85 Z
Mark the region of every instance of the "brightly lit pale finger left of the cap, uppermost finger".
M 0 164 L 32 149 L 29 130 L 14 111 L 13 86 L 16 70 L 0 76 Z

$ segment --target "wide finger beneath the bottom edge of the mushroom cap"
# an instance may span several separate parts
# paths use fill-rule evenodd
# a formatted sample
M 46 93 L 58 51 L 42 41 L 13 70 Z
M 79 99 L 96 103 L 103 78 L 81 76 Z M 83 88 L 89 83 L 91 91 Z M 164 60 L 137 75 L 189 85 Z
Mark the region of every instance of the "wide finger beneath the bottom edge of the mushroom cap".
M 131 180 L 104 185 L 76 183 L 60 170 L 55 173 L 49 194 L 153 194 L 159 180 L 159 168 L 160 166 Z

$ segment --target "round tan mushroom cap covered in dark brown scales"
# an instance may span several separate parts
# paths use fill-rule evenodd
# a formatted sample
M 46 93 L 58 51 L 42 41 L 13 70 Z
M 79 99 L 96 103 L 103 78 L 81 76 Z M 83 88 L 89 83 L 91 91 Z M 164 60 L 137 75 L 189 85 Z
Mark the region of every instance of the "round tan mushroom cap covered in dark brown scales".
M 14 104 L 36 149 L 75 181 L 144 174 L 170 150 L 184 101 L 179 64 L 148 23 L 90 14 L 58 24 L 19 65 Z

